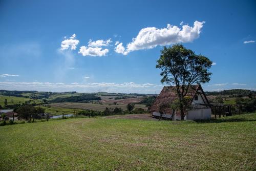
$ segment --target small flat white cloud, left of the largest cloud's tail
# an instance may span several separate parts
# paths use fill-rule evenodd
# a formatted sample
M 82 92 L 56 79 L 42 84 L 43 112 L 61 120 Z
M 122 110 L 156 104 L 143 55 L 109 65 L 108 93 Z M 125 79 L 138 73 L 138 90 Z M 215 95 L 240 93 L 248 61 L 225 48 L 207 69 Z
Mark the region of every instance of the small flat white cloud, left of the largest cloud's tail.
M 82 46 L 80 47 L 80 50 L 78 53 L 82 54 L 83 56 L 105 56 L 108 52 L 109 52 L 108 49 Z

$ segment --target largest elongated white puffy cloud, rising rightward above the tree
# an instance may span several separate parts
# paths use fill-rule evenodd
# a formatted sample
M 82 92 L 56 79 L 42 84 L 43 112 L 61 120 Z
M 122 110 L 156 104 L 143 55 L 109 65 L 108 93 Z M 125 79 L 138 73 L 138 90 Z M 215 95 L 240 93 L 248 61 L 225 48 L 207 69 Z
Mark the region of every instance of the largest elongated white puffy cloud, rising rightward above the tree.
M 124 47 L 121 43 L 116 46 L 115 50 L 117 53 L 126 55 L 136 50 L 152 49 L 156 46 L 171 45 L 179 42 L 191 42 L 199 37 L 204 23 L 205 22 L 195 21 L 193 27 L 183 25 L 182 29 L 169 24 L 166 28 L 162 29 L 155 27 L 143 28 L 138 35 L 133 38 L 132 42 L 127 44 L 124 51 Z

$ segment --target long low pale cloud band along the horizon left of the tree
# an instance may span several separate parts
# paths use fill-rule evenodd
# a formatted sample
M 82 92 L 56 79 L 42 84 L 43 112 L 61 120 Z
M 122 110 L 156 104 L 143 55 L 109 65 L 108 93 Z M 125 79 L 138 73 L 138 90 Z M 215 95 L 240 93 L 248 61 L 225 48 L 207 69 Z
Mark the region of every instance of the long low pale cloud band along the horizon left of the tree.
M 115 93 L 159 93 L 162 85 L 135 82 L 92 82 L 92 83 L 53 83 L 53 82 L 0 82 L 0 90 L 37 90 L 37 91 L 78 91 L 78 92 L 115 92 Z

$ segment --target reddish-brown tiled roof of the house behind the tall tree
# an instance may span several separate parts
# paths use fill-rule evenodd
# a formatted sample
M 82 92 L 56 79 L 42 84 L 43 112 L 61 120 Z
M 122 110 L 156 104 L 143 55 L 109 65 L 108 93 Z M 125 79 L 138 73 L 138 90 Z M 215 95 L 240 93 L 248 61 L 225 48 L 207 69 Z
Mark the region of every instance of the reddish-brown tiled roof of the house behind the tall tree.
M 194 98 L 198 89 L 202 89 L 200 85 L 191 86 L 188 89 L 186 96 L 190 96 L 190 97 Z M 170 103 L 178 98 L 179 97 L 178 97 L 178 94 L 176 91 L 176 86 L 164 87 L 163 90 L 161 91 L 161 93 L 156 98 L 156 101 L 151 106 L 150 111 L 151 112 L 159 112 L 159 105 L 161 103 Z M 172 109 L 167 109 L 166 114 L 172 114 Z M 177 111 L 177 114 L 178 114 L 178 111 Z

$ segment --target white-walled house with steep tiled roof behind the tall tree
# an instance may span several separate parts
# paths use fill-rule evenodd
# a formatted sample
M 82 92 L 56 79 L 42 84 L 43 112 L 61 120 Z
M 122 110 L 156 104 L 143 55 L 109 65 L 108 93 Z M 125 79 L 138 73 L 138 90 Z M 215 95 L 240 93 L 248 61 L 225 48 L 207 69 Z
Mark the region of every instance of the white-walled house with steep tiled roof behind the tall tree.
M 191 86 L 188 89 L 186 96 L 193 98 L 193 100 L 191 100 L 191 106 L 193 106 L 193 109 L 190 109 L 184 114 L 184 120 L 210 119 L 210 105 L 200 84 Z M 159 105 L 161 103 L 171 103 L 178 98 L 179 97 L 177 95 L 175 86 L 164 87 L 150 108 L 152 116 L 160 116 Z M 169 108 L 166 110 L 166 114 L 164 114 L 162 117 L 172 118 L 172 114 L 173 110 Z M 174 116 L 172 119 L 181 119 L 178 110 L 174 112 Z

